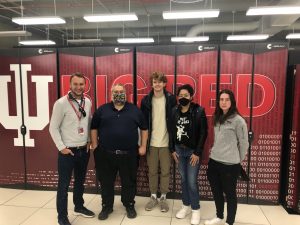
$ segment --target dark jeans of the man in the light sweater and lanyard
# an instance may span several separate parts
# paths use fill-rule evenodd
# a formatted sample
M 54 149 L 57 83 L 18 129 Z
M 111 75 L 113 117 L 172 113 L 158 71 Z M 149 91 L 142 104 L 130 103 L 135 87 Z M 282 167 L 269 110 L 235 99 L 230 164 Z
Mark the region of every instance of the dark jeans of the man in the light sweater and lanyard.
M 72 150 L 72 149 L 71 149 Z M 86 149 L 72 150 L 74 156 L 58 153 L 58 186 L 56 196 L 56 208 L 58 218 L 62 219 L 68 215 L 68 189 L 74 170 L 73 202 L 75 209 L 83 207 L 84 181 L 90 153 Z

